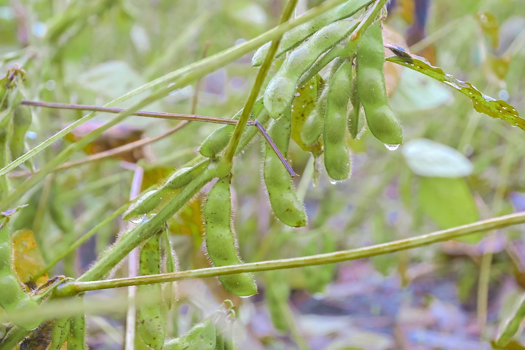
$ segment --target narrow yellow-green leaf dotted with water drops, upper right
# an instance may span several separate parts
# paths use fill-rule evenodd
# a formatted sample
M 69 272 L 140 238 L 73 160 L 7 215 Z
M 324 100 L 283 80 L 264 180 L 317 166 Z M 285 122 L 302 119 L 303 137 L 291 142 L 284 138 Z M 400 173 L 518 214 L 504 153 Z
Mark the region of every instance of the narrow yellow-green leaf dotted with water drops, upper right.
M 430 65 L 423 57 L 415 55 L 411 58 L 391 56 L 387 57 L 386 60 L 423 73 L 455 88 L 472 100 L 474 109 L 479 113 L 485 113 L 492 118 L 505 120 L 510 125 L 518 126 L 520 129 L 525 130 L 525 119 L 520 118 L 518 111 L 512 105 L 481 93 L 468 81 L 461 81 L 446 74 L 443 69 Z

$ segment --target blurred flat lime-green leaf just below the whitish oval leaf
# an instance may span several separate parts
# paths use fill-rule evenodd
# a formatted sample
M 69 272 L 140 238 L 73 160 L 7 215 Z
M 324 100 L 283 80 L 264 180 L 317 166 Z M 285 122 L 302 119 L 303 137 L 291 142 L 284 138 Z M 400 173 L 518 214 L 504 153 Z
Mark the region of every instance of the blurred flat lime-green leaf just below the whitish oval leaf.
M 419 184 L 419 206 L 441 229 L 470 224 L 478 220 L 478 208 L 463 178 L 422 177 Z M 461 239 L 475 243 L 480 235 Z

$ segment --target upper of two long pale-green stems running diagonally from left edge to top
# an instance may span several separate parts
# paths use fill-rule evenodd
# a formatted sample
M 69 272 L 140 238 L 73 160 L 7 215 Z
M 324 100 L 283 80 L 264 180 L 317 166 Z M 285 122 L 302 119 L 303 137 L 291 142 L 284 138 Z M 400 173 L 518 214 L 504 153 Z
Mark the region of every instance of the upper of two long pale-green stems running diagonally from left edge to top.
M 257 49 L 262 44 L 265 44 L 265 43 L 267 43 L 270 40 L 273 40 L 273 39 L 275 39 L 277 37 L 280 37 L 286 31 L 288 31 L 288 30 L 290 30 L 292 28 L 295 28 L 295 27 L 297 27 L 297 26 L 299 26 L 299 25 L 301 25 L 303 23 L 308 22 L 310 19 L 313 19 L 314 17 L 317 17 L 320 14 L 322 14 L 324 12 L 327 12 L 329 9 L 331 9 L 331 8 L 333 8 L 335 6 L 338 6 L 338 5 L 342 4 L 342 3 L 344 3 L 345 1 L 346 0 L 331 0 L 331 1 L 324 2 L 321 5 L 319 5 L 319 6 L 315 7 L 315 8 L 312 8 L 307 13 L 305 13 L 301 17 L 296 18 L 293 21 L 288 21 L 288 22 L 283 23 L 283 24 L 281 24 L 281 25 L 279 25 L 277 27 L 274 27 L 274 28 L 266 31 L 265 33 L 257 36 L 256 38 L 246 41 L 243 44 L 240 44 L 240 45 L 237 45 L 237 46 L 235 46 L 233 48 L 229 48 L 227 50 L 218 52 L 215 55 L 212 55 L 212 56 L 209 56 L 209 57 L 204 58 L 202 60 L 199 60 L 197 62 L 194 62 L 191 65 L 188 65 L 188 66 L 185 66 L 183 68 L 176 69 L 176 70 L 174 70 L 174 71 L 172 71 L 170 73 L 167 73 L 166 75 L 164 75 L 164 76 L 162 76 L 162 77 L 160 77 L 158 79 L 155 79 L 155 80 L 153 80 L 153 81 L 151 81 L 149 83 L 146 83 L 143 86 L 141 86 L 141 87 L 139 87 L 139 88 L 137 88 L 137 89 L 135 89 L 133 91 L 130 91 L 127 94 L 125 94 L 125 95 L 123 95 L 123 96 L 121 96 L 121 97 L 119 97 L 119 98 L 117 98 L 117 99 L 107 103 L 106 105 L 104 105 L 104 107 L 111 107 L 113 105 L 118 104 L 119 102 L 128 100 L 128 99 L 130 99 L 130 98 L 132 98 L 134 96 L 137 96 L 138 94 L 140 94 L 140 93 L 142 93 L 142 92 L 144 92 L 146 90 L 149 90 L 149 89 L 158 89 L 160 86 L 168 86 L 170 83 L 174 82 L 175 80 L 177 80 L 177 79 L 179 79 L 181 77 L 186 78 L 186 79 L 184 79 L 185 80 L 184 84 L 181 84 L 181 83 L 175 84 L 174 86 L 172 86 L 171 89 L 170 88 L 169 89 L 164 89 L 164 90 L 160 91 L 160 94 L 153 94 L 150 97 L 148 97 L 148 98 L 146 98 L 146 99 L 144 99 L 142 101 L 146 101 L 146 100 L 148 100 L 148 99 L 150 99 L 152 97 L 155 97 L 155 96 L 164 96 L 164 94 L 167 94 L 167 93 L 169 93 L 169 92 L 171 92 L 171 91 L 173 91 L 175 89 L 182 88 L 182 87 L 186 86 L 188 83 L 191 83 L 194 80 L 197 80 L 199 78 L 202 78 L 202 77 L 206 76 L 209 72 L 212 72 L 212 71 L 214 71 L 214 70 L 216 70 L 216 69 L 218 69 L 220 67 L 223 67 L 223 66 L 227 65 L 230 62 L 233 62 L 233 61 L 237 60 L 238 58 L 242 57 L 243 55 L 246 55 L 248 52 Z M 154 102 L 154 101 L 155 100 L 152 100 L 151 102 Z M 148 103 L 142 104 L 141 102 L 133 105 L 133 107 L 131 108 L 131 112 L 132 113 L 136 112 L 139 108 L 142 108 L 142 107 L 137 107 L 138 105 L 145 107 L 145 105 L 148 104 Z M 77 128 L 79 125 L 81 125 L 83 123 L 86 123 L 87 121 L 91 120 L 93 117 L 95 117 L 95 115 L 96 115 L 96 113 L 89 113 L 89 114 L 83 116 L 81 119 L 77 120 L 76 122 L 72 123 L 71 125 L 67 126 L 67 128 L 62 129 L 58 133 L 56 133 L 55 135 L 49 137 L 49 139 L 47 139 L 46 141 L 40 143 L 34 149 L 30 150 L 26 154 L 24 154 L 24 155 L 20 156 L 19 158 L 17 158 L 15 161 L 9 163 L 4 168 L 0 169 L 0 176 L 3 176 L 5 174 L 7 174 L 8 172 L 12 171 L 15 167 L 17 167 L 18 165 L 20 165 L 23 162 L 27 161 L 29 158 L 35 156 L 40 151 L 46 149 L 51 144 L 53 144 L 54 142 L 56 142 L 59 139 L 61 139 L 62 137 L 64 137 L 67 133 L 69 133 L 70 131 L 72 131 L 75 128 Z M 119 118 L 119 116 L 121 116 L 121 115 L 122 114 L 119 114 L 116 118 Z M 130 115 L 130 114 L 128 114 L 128 115 Z M 125 115 L 125 116 L 128 116 L 128 115 Z M 125 116 L 123 116 L 121 119 L 124 119 Z M 102 129 L 102 131 L 107 130 L 106 125 L 104 125 L 100 129 Z M 112 125 L 114 125 L 114 124 L 112 124 Z M 108 128 L 110 126 L 112 126 L 112 125 L 108 125 Z M 97 129 L 97 130 L 99 130 L 99 129 Z M 97 132 L 97 130 L 95 130 L 93 132 Z M 79 148 L 81 148 L 81 147 L 79 147 Z M 64 152 L 66 152 L 66 151 L 64 151 Z

